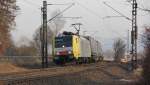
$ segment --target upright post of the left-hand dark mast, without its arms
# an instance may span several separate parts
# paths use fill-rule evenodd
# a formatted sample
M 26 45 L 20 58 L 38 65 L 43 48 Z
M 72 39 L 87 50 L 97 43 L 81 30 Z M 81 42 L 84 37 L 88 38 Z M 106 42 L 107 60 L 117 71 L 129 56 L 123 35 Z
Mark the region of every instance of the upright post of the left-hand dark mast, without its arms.
M 47 48 L 47 1 L 43 1 L 42 7 L 43 26 L 41 29 L 41 53 L 42 53 L 42 68 L 48 67 L 48 48 Z

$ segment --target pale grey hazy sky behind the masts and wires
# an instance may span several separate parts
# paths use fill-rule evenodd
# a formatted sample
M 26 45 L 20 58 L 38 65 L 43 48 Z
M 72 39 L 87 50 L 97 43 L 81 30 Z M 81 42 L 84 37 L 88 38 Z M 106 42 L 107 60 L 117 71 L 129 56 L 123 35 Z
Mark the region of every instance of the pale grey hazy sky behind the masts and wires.
M 32 40 L 35 30 L 41 24 L 41 10 L 43 0 L 18 0 L 17 5 L 21 8 L 16 18 L 16 30 L 12 32 L 13 39 L 18 42 L 22 37 Z M 131 29 L 131 21 L 120 18 L 106 18 L 106 16 L 119 16 L 111 8 L 103 4 L 106 2 L 122 14 L 131 18 L 131 4 L 127 0 L 47 0 L 52 4 L 66 4 L 76 2 L 76 4 L 63 13 L 66 17 L 82 17 L 81 19 L 67 19 L 63 30 L 73 30 L 71 24 L 82 23 L 81 33 L 87 31 L 102 42 L 104 48 L 112 46 L 113 40 L 120 37 L 127 39 L 127 30 Z M 128 0 L 129 1 L 129 0 Z M 149 0 L 138 0 L 139 7 L 150 8 Z M 48 18 L 51 13 L 57 9 L 63 10 L 67 5 L 48 6 Z M 150 13 L 138 11 L 139 33 L 142 33 L 143 25 L 150 25 Z M 140 42 L 139 38 L 139 42 Z M 139 44 L 140 46 L 141 44 Z

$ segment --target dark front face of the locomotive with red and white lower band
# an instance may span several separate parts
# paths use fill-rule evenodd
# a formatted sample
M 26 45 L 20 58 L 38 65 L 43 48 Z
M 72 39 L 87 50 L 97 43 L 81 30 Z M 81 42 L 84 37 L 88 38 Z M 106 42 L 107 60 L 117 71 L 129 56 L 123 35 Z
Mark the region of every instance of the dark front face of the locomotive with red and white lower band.
M 56 64 L 73 60 L 72 35 L 58 36 L 54 39 L 54 57 Z

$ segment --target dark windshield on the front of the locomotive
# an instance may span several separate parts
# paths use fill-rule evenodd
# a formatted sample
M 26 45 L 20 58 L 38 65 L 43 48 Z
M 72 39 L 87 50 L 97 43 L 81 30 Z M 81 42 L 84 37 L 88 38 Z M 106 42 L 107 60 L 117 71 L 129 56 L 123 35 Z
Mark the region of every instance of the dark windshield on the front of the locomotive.
M 55 47 L 71 47 L 72 46 L 72 36 L 62 36 L 55 38 Z

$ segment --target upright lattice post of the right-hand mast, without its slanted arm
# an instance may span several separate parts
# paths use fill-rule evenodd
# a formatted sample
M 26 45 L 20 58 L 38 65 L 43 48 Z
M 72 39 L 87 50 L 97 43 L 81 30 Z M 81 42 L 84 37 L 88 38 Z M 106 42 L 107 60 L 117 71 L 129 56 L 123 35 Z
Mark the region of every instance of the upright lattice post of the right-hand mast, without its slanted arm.
M 132 54 L 132 69 L 137 67 L 137 2 L 132 2 L 132 31 L 131 31 L 131 54 Z

